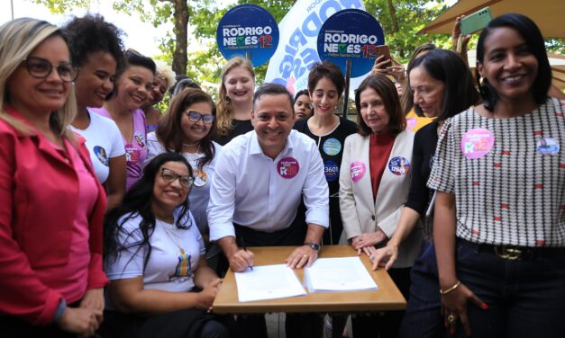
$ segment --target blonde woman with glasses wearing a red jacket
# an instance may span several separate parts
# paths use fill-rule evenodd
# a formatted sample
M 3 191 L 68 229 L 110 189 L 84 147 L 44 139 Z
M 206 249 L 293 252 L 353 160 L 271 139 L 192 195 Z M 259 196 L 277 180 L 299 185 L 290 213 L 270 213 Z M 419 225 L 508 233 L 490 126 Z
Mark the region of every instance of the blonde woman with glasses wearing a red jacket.
M 90 336 L 102 322 L 105 191 L 83 138 L 77 68 L 57 26 L 0 27 L 0 327 L 3 337 Z

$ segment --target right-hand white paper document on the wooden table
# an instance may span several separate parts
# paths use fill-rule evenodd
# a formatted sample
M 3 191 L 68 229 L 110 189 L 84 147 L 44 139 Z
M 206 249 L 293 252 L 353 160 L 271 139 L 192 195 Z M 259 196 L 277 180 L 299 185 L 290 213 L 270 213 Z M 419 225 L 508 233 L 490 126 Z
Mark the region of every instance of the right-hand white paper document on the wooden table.
M 359 257 L 319 258 L 305 267 L 304 275 L 310 292 L 378 289 Z

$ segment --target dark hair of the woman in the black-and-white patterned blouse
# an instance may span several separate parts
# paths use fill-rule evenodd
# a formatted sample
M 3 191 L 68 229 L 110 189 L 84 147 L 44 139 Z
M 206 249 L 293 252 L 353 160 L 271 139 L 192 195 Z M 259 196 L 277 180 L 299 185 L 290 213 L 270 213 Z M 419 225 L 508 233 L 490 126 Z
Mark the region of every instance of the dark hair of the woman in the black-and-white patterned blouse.
M 507 13 L 500 15 L 493 21 L 488 23 L 478 37 L 477 42 L 477 62 L 484 64 L 485 58 L 485 40 L 491 31 L 500 27 L 512 28 L 522 36 L 528 49 L 538 60 L 538 74 L 532 84 L 533 99 L 537 104 L 542 104 L 547 100 L 547 92 L 551 85 L 551 66 L 545 51 L 545 43 L 543 42 L 542 32 L 530 18 L 518 13 Z M 495 88 L 488 83 L 487 79 L 483 79 L 480 83 L 480 75 L 477 71 L 478 87 L 483 97 L 483 103 L 488 111 L 494 111 L 498 101 L 498 94 Z

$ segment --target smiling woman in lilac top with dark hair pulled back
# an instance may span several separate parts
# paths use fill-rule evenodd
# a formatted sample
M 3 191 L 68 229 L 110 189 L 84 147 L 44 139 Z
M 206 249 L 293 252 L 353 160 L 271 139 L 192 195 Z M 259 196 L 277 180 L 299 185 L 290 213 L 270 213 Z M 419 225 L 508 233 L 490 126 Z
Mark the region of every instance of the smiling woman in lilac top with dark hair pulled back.
M 141 105 L 150 97 L 155 76 L 155 62 L 133 49 L 125 52 L 124 65 L 115 76 L 112 93 L 104 107 L 96 113 L 114 120 L 122 134 L 125 148 L 125 189 L 141 177 L 141 167 L 147 156 L 145 115 Z

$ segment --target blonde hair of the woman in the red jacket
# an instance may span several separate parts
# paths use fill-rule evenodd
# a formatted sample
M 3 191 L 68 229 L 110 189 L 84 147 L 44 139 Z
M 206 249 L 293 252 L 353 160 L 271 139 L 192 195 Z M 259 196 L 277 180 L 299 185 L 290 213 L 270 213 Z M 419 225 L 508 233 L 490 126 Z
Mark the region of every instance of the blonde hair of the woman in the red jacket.
M 10 101 L 7 97 L 6 83 L 23 59 L 27 58 L 41 42 L 53 36 L 64 39 L 59 27 L 37 19 L 19 18 L 0 26 L 0 119 L 25 134 L 32 133 L 29 126 L 21 120 L 14 119 L 4 110 L 5 102 Z M 67 101 L 53 113 L 50 119 L 51 125 L 54 124 L 61 136 L 74 141 L 73 132 L 67 128 L 77 114 L 77 101 L 72 86 Z

